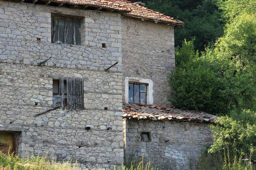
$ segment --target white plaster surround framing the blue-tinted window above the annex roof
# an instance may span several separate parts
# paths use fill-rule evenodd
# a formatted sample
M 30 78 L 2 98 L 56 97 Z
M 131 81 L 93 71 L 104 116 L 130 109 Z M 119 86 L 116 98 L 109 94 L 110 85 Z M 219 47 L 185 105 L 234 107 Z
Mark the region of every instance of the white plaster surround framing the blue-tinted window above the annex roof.
M 130 82 L 141 82 L 147 83 L 147 104 L 153 104 L 153 81 L 150 79 L 143 79 L 140 77 L 125 77 L 125 84 L 124 84 L 124 97 L 125 102 L 129 103 L 129 81 Z

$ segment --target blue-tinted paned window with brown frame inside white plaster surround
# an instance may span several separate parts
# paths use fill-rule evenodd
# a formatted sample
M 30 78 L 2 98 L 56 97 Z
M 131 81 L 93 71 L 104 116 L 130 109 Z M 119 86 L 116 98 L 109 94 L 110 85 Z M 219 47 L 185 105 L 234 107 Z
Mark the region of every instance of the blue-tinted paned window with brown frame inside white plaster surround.
M 129 103 L 147 104 L 147 84 L 129 82 Z

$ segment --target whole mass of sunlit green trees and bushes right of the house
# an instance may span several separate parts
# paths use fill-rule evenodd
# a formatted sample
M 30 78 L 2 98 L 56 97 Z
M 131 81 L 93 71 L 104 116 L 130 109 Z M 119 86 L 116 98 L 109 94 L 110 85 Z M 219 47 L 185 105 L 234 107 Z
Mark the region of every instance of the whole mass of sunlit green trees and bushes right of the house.
M 245 170 L 242 158 L 256 160 L 256 1 L 216 0 L 225 20 L 223 36 L 206 51 L 195 51 L 193 39 L 176 50 L 170 78 L 170 101 L 178 108 L 221 117 L 211 125 L 214 140 L 204 161 L 222 155 L 216 170 Z M 249 161 L 250 162 L 250 161 Z

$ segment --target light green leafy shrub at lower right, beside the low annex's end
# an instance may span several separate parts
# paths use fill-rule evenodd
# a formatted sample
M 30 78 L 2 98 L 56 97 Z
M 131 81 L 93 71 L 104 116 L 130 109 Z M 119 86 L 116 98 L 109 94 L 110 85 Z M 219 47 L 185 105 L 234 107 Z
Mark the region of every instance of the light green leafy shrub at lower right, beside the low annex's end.
M 232 112 L 230 116 L 220 117 L 211 125 L 214 132 L 213 145 L 209 152 L 230 152 L 234 156 L 256 159 L 256 113 L 250 110 Z

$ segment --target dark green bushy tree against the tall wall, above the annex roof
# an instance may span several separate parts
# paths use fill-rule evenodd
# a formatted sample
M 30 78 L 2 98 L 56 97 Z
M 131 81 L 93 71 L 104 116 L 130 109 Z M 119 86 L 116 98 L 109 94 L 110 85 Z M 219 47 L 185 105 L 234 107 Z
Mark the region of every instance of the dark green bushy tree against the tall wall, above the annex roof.
M 173 91 L 169 97 L 174 106 L 213 114 L 228 111 L 225 97 L 221 96 L 224 82 L 216 72 L 219 66 L 208 62 L 210 51 L 199 57 L 193 42 L 186 40 L 176 50 L 176 69 L 170 77 Z

